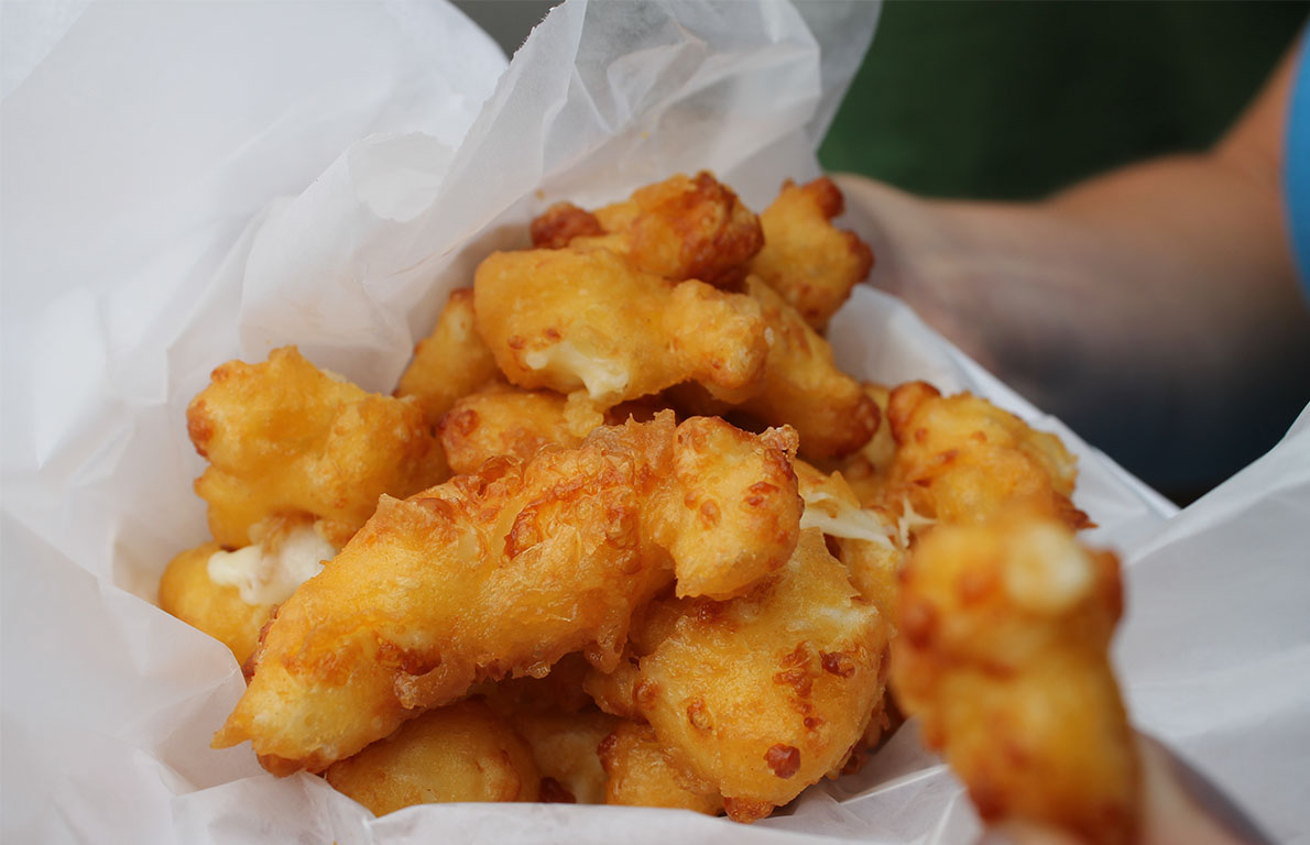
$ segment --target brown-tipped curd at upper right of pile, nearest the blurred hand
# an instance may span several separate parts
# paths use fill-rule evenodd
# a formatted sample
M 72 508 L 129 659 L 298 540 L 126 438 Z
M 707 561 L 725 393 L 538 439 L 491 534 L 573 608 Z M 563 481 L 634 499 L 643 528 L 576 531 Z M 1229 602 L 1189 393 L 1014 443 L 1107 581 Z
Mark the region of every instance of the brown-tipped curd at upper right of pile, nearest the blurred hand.
M 874 267 L 869 245 L 832 225 L 842 204 L 841 191 L 828 177 L 802 186 L 787 179 L 760 215 L 764 249 L 751 261 L 751 272 L 817 331 Z

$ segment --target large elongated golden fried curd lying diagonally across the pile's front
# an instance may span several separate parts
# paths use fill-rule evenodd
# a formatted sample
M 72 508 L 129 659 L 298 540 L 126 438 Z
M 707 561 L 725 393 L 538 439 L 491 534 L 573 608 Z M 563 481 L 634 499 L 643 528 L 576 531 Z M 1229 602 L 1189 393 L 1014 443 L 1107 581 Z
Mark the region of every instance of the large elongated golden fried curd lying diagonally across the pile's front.
M 665 413 L 383 497 L 279 607 L 215 747 L 249 739 L 274 773 L 320 772 L 481 680 L 545 675 L 572 651 L 613 668 L 634 610 L 684 573 L 748 590 L 791 555 L 800 504 L 785 434 L 723 427 Z M 765 516 L 732 519 L 738 500 Z

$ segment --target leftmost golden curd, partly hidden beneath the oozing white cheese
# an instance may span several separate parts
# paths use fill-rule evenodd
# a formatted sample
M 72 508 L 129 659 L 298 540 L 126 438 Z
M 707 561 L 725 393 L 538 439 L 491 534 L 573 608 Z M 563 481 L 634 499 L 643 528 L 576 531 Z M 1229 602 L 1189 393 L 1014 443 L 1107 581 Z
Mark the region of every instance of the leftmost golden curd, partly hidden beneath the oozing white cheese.
M 236 587 L 210 580 L 210 558 L 219 550 L 219 544 L 206 542 L 173 558 L 160 578 L 160 608 L 214 637 L 232 650 L 237 663 L 245 663 L 272 605 L 246 604 Z

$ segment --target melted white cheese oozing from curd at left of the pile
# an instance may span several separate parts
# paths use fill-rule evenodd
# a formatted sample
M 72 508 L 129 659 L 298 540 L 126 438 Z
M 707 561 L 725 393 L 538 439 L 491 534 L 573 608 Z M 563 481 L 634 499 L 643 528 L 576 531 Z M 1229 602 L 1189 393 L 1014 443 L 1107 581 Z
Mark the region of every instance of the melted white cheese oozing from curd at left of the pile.
M 282 604 L 296 587 L 322 571 L 322 562 L 331 559 L 337 549 L 324 540 L 314 525 L 301 525 L 282 538 L 276 553 L 263 544 L 215 552 L 210 557 L 210 580 L 241 591 L 246 604 Z

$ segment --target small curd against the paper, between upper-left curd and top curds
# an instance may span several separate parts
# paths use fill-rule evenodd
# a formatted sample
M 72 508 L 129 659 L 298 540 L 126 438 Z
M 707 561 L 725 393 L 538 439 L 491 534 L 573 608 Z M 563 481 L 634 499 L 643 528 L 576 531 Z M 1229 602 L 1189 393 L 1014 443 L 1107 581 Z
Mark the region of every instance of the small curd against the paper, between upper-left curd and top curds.
M 413 396 L 427 421 L 435 423 L 455 400 L 499 376 L 474 326 L 473 290 L 460 288 L 451 292 L 432 334 L 414 347 L 414 360 L 401 375 L 396 396 Z

